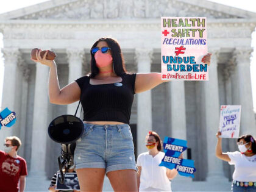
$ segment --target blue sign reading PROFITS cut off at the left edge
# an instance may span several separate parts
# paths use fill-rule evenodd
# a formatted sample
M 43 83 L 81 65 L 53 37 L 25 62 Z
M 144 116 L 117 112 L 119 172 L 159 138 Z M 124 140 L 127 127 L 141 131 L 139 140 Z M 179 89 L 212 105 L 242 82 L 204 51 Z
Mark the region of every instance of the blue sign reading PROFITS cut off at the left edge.
M 2 126 L 11 127 L 16 122 L 15 112 L 11 112 L 9 108 L 5 108 L 0 112 L 0 129 Z

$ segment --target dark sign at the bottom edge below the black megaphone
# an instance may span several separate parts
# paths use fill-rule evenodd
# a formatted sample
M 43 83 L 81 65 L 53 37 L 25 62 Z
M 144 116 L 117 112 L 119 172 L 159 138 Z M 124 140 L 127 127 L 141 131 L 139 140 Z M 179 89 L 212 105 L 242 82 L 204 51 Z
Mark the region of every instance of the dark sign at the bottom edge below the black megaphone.
M 78 177 L 76 172 L 66 172 L 64 174 L 64 183 L 60 183 L 60 172 L 57 172 L 56 190 L 76 190 L 80 191 Z

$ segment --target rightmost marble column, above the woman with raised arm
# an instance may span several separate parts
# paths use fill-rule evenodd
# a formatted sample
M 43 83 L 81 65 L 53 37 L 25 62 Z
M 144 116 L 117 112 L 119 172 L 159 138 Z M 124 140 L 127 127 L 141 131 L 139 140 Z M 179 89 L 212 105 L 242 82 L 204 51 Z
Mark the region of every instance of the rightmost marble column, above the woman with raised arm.
M 239 91 L 239 103 L 241 105 L 240 135 L 251 134 L 256 137 L 255 115 L 252 103 L 252 84 L 250 72 L 250 57 L 252 49 L 236 48 L 235 59 L 237 69 L 237 88 Z

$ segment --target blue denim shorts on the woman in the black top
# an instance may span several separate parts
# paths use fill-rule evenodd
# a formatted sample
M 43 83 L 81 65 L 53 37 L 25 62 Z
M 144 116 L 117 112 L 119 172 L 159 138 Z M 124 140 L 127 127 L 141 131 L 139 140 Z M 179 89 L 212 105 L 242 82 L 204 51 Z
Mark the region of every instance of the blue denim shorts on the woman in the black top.
M 128 124 L 84 124 L 82 137 L 76 141 L 76 169 L 104 168 L 109 171 L 136 168 L 132 132 Z

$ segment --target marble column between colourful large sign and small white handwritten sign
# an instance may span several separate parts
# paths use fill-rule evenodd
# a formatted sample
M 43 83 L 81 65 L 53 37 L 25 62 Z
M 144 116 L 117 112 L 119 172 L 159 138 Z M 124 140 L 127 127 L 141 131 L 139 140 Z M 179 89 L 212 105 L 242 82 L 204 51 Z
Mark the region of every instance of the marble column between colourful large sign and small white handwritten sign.
M 212 49 L 211 64 L 208 67 L 209 80 L 204 82 L 205 98 L 205 129 L 207 135 L 207 180 L 219 179 L 224 177 L 221 160 L 215 157 L 215 137 L 219 127 L 219 87 L 218 87 L 218 55 L 219 50 Z

